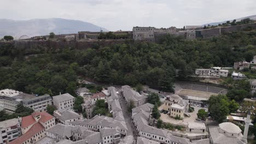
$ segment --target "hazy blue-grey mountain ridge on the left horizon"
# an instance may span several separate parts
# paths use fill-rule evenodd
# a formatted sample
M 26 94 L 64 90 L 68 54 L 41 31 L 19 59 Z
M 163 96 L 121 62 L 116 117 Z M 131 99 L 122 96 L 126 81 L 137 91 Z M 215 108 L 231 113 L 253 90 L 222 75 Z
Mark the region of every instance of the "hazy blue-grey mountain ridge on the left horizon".
M 18 21 L 0 19 L 0 37 L 12 35 L 15 39 L 19 39 L 21 35 L 34 37 L 37 35 L 48 35 L 50 32 L 68 34 L 79 31 L 100 32 L 101 30 L 108 31 L 106 28 L 101 28 L 89 22 L 60 18 Z

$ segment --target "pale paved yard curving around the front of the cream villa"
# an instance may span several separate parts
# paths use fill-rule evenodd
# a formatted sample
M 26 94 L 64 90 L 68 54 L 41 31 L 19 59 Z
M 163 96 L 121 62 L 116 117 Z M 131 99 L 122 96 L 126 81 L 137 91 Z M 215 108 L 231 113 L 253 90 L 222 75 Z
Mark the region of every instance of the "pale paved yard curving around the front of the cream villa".
M 159 107 L 159 110 L 162 110 L 161 108 L 162 106 Z M 208 111 L 208 109 L 206 107 L 199 107 L 199 106 L 191 106 L 194 107 L 194 112 L 189 112 L 190 117 L 184 117 L 183 120 L 176 120 L 172 117 L 170 117 L 169 115 L 161 113 L 161 117 L 160 119 L 162 119 L 162 121 L 166 122 L 166 123 L 173 123 L 173 124 L 188 124 L 189 122 L 196 122 L 196 118 L 197 118 L 197 112 L 200 109 L 205 109 Z M 198 122 L 198 121 L 197 121 Z

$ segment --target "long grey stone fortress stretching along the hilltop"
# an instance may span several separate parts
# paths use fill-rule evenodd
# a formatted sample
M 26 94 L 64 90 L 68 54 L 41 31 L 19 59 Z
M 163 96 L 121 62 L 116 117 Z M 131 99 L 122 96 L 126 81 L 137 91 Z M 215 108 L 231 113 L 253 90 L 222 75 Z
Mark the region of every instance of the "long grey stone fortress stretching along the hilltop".
M 185 39 L 208 39 L 212 37 L 218 37 L 224 33 L 242 31 L 248 28 L 256 28 L 256 22 L 245 25 L 216 27 L 203 29 L 201 26 L 185 26 L 183 28 L 155 28 L 155 27 L 133 27 L 132 31 L 116 31 L 116 32 L 78 32 L 74 34 L 61 34 L 55 35 L 57 39 L 66 40 L 98 40 L 98 39 L 129 39 L 129 40 L 142 40 L 148 42 L 155 42 L 162 35 L 170 34 L 175 36 L 184 37 Z M 49 38 L 49 35 L 33 37 L 30 40 L 38 40 L 45 37 Z

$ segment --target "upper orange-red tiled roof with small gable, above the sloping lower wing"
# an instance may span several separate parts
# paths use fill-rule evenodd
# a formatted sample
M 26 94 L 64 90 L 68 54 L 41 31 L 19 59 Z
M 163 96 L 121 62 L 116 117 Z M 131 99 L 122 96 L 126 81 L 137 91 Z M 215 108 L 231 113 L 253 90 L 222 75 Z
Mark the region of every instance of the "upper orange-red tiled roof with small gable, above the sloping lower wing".
M 41 115 L 39 122 L 43 122 L 43 123 L 50 121 L 50 119 L 54 118 L 47 112 L 33 112 L 30 116 L 22 117 L 21 128 L 26 128 L 26 127 L 32 125 L 33 123 L 36 123 L 36 120 L 34 119 L 34 117 L 36 117 L 38 115 Z

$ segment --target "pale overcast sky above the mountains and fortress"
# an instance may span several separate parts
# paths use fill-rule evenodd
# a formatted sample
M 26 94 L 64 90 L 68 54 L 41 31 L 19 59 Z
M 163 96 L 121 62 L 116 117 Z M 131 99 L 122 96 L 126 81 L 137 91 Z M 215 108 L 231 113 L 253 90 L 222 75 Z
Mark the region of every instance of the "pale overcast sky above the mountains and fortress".
M 255 0 L 1 0 L 0 19 L 59 17 L 109 31 L 133 26 L 183 27 L 256 14 Z

